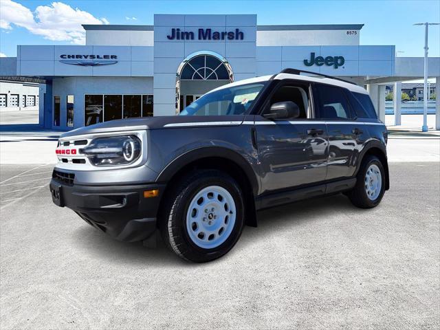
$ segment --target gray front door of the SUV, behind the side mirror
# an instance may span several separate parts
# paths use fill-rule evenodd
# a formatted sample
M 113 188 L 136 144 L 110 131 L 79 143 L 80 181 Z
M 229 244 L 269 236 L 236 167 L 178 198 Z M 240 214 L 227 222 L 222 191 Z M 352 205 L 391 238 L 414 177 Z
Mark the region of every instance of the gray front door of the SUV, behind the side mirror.
M 300 108 L 300 118 L 267 120 L 263 115 L 255 117 L 264 192 L 325 180 L 327 127 L 325 122 L 313 118 L 309 90 L 308 84 L 288 83 L 278 87 L 270 98 L 270 104 L 295 102 Z

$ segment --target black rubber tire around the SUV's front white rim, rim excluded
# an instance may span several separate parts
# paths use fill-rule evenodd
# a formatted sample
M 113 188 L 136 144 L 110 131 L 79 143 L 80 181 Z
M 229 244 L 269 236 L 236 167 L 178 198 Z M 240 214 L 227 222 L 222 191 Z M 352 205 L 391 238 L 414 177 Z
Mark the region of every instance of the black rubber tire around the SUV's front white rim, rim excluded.
M 236 218 L 228 239 L 216 248 L 206 249 L 190 239 L 186 214 L 195 195 L 208 186 L 220 186 L 230 193 L 235 203 Z M 159 219 L 159 230 L 164 243 L 182 259 L 195 263 L 212 261 L 228 253 L 243 231 L 245 212 L 242 195 L 236 181 L 219 170 L 198 170 L 181 177 L 164 197 L 168 202 L 162 209 Z

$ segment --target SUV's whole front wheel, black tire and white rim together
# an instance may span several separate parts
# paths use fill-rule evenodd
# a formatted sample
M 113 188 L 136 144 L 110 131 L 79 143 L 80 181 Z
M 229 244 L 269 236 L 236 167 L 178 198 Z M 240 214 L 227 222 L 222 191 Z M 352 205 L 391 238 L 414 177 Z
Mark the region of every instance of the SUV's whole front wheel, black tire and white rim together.
M 244 224 L 241 188 L 219 170 L 199 170 L 179 180 L 168 195 L 159 229 L 166 245 L 188 261 L 226 254 Z

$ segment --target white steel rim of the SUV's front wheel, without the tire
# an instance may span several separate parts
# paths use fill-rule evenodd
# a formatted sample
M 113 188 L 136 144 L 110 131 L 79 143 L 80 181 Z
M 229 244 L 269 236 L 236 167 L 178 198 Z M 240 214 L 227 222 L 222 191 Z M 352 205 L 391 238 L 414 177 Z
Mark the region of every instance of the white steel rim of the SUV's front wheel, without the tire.
M 235 219 L 236 206 L 230 192 L 221 186 L 208 186 L 190 201 L 186 213 L 188 236 L 200 248 L 217 248 L 230 236 Z

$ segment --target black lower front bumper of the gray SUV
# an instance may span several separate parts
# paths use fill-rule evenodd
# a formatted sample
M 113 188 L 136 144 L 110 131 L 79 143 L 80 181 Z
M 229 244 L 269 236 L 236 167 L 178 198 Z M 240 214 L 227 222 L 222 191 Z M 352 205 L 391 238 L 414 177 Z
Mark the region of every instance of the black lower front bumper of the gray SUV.
M 163 184 L 86 186 L 54 177 L 52 201 L 74 210 L 87 223 L 120 241 L 142 241 L 157 228 L 157 210 Z M 144 198 L 144 190 L 158 189 L 157 197 Z

